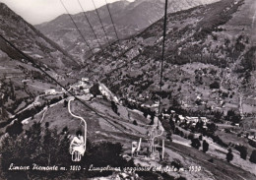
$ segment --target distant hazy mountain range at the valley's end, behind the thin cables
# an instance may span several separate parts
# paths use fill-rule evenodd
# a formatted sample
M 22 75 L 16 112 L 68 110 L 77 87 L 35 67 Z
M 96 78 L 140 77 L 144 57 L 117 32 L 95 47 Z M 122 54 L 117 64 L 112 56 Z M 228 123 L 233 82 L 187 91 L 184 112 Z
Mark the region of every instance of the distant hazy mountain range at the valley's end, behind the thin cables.
M 213 3 L 218 0 L 204 1 L 205 4 Z M 201 0 L 174 0 L 169 2 L 169 12 L 176 12 L 183 9 L 188 9 L 198 5 L 202 5 Z M 116 26 L 118 36 L 124 38 L 135 34 L 136 32 L 143 30 L 163 16 L 164 1 L 162 0 L 136 0 L 132 3 L 127 1 L 118 1 L 109 4 L 109 9 L 113 17 L 113 22 Z M 110 17 L 107 12 L 106 6 L 98 8 L 99 16 L 104 25 L 104 29 L 107 31 L 107 36 L 110 41 L 116 40 L 116 35 L 111 25 Z M 106 44 L 107 39 L 99 24 L 99 20 L 96 16 L 96 11 L 86 12 L 89 21 L 96 31 L 96 35 L 99 38 L 101 45 Z M 93 31 L 90 29 L 88 22 L 86 21 L 84 14 L 79 13 L 72 16 L 77 23 L 79 29 L 86 36 L 89 44 L 95 51 L 98 49 L 98 44 Z M 75 54 L 77 57 L 84 61 L 84 57 L 81 56 L 89 50 L 86 43 L 81 38 L 79 32 L 75 30 L 72 21 L 68 15 L 62 15 L 55 20 L 35 26 L 36 29 L 41 30 L 43 34 L 50 39 L 59 43 L 63 48 L 70 53 Z M 108 45 L 108 44 L 106 44 Z

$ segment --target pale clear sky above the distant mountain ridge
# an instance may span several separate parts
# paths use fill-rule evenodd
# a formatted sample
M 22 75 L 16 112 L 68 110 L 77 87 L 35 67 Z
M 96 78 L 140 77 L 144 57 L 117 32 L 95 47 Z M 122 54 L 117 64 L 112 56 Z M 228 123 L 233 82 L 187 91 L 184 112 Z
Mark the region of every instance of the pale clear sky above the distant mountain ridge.
M 62 0 L 70 14 L 82 12 L 78 0 Z M 92 0 L 79 0 L 85 11 L 93 10 Z M 112 3 L 119 0 L 106 0 Z M 128 0 L 134 1 L 134 0 Z M 23 17 L 32 25 L 48 22 L 59 15 L 66 14 L 60 0 L 0 0 L 5 3 L 15 13 Z M 95 0 L 96 8 L 105 5 L 105 0 Z

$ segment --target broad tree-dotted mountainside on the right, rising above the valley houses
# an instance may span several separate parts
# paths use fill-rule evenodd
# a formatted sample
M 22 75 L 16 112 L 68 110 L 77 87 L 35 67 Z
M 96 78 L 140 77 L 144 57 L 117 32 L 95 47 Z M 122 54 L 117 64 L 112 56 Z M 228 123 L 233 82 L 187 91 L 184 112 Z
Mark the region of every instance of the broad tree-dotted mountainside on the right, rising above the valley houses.
M 244 7 L 249 4 L 255 6 L 251 0 L 224 0 L 168 14 L 164 108 L 175 104 L 205 114 L 230 109 L 256 112 L 251 100 L 256 96 L 252 30 L 242 28 L 234 33 L 232 27 L 225 28 L 245 13 Z M 113 52 L 97 54 L 94 63 L 87 61 L 87 70 L 91 71 L 88 76 L 101 80 L 119 97 L 157 103 L 162 23 L 160 20 L 138 35 L 115 43 Z

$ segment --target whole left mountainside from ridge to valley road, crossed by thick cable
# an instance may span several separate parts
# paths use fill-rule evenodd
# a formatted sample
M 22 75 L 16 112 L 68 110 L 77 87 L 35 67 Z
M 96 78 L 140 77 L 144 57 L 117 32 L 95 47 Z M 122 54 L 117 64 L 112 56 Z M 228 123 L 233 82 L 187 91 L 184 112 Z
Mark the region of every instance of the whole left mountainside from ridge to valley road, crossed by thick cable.
M 0 3 L 0 34 L 30 56 L 36 65 L 60 82 L 68 83 L 67 76 L 77 68 L 75 60 L 32 25 Z M 56 84 L 0 38 L 0 117 L 8 119 L 25 108 L 33 98 Z M 65 85 L 64 84 L 64 85 Z M 59 88 L 58 88 L 59 89 Z

